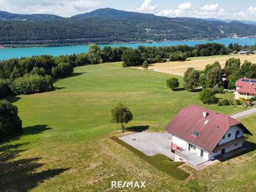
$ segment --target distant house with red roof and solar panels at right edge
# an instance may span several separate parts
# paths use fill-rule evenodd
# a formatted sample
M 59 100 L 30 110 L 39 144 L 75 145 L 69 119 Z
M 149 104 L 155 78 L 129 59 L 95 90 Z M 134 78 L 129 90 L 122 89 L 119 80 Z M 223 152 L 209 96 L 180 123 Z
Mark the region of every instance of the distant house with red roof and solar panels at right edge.
M 236 99 L 250 99 L 256 96 L 256 79 L 241 78 L 236 81 Z

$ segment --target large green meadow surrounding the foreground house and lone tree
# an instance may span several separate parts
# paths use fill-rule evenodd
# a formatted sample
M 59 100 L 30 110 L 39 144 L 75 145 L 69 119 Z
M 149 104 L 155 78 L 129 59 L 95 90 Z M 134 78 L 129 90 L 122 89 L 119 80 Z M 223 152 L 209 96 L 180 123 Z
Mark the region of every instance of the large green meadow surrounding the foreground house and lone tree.
M 201 171 L 184 165 L 190 177 L 176 180 L 110 139 L 137 130 L 162 131 L 190 104 L 226 114 L 245 110 L 203 105 L 198 93 L 182 87 L 170 91 L 169 76 L 105 63 L 76 67 L 72 76 L 56 81 L 56 91 L 8 97 L 19 108 L 24 135 L 0 144 L 0 191 L 104 191 L 111 190 L 112 180 L 142 180 L 145 191 L 255 189 L 255 151 Z M 111 122 L 110 110 L 119 102 L 134 115 L 126 133 Z M 255 116 L 243 121 L 255 135 Z M 255 136 L 250 141 L 255 143 Z M 192 179 L 197 182 L 191 184 Z

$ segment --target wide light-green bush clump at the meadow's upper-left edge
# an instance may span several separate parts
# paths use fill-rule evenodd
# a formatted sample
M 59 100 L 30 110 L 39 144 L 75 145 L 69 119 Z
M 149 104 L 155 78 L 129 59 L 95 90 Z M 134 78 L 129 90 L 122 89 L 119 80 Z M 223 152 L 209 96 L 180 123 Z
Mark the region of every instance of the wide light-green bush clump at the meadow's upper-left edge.
M 33 94 L 51 91 L 53 88 L 51 76 L 39 76 L 38 74 L 26 74 L 13 81 L 11 90 L 14 94 Z

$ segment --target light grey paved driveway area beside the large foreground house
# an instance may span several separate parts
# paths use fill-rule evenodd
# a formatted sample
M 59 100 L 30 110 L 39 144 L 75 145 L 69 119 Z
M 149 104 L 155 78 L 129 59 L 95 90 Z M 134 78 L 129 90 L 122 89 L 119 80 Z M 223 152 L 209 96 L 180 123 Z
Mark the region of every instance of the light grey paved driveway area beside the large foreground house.
M 141 132 L 120 137 L 120 140 L 148 156 L 163 154 L 170 159 L 175 159 L 175 155 L 170 151 L 169 138 L 168 133 Z

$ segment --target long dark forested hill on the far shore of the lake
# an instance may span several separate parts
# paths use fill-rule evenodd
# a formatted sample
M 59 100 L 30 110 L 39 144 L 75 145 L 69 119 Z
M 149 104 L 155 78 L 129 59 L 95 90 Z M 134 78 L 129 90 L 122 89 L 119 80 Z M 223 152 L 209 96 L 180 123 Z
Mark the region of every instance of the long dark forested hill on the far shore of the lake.
M 27 16 L 22 15 L 20 18 Z M 163 41 L 255 35 L 256 26 L 186 17 L 98 9 L 83 15 L 45 19 L 0 19 L 0 44 L 66 44 L 113 41 Z M 46 19 L 47 16 L 51 19 Z M 34 19 L 33 19 L 34 18 Z

